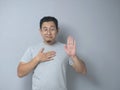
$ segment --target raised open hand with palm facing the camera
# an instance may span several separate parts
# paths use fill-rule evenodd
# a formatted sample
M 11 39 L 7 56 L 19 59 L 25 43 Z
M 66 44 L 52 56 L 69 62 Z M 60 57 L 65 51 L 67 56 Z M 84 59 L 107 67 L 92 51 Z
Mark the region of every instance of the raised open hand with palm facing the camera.
M 76 42 L 71 36 L 68 36 L 67 44 L 64 46 L 64 48 L 65 48 L 66 53 L 69 56 L 75 56 L 76 55 Z

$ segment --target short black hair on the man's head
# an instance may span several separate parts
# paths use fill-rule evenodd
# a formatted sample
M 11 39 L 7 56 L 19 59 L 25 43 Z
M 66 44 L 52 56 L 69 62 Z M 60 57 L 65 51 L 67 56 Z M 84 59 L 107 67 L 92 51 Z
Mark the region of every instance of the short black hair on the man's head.
M 42 28 L 42 24 L 44 22 L 49 22 L 49 21 L 53 21 L 55 23 L 56 29 L 58 29 L 58 20 L 52 16 L 45 16 L 40 20 L 40 29 Z

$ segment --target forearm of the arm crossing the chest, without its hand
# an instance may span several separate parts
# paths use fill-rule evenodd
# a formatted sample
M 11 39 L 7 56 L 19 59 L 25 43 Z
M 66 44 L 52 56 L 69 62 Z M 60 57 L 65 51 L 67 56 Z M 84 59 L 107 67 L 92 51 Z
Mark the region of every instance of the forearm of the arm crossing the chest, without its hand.
M 34 68 L 38 65 L 39 61 L 37 58 L 33 58 L 30 62 L 28 63 L 20 63 L 18 66 L 18 77 L 23 77 L 29 74 Z

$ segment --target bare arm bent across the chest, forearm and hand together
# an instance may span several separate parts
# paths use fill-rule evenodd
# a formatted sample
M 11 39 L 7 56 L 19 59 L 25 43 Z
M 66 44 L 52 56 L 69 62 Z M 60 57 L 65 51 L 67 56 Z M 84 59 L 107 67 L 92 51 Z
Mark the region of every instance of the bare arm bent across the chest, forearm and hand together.
M 36 57 L 34 57 L 30 62 L 24 63 L 20 62 L 17 68 L 18 77 L 23 77 L 29 74 L 34 68 L 40 63 L 44 61 L 53 60 L 52 58 L 55 56 L 54 51 L 49 51 L 43 53 L 44 49 L 42 49 Z

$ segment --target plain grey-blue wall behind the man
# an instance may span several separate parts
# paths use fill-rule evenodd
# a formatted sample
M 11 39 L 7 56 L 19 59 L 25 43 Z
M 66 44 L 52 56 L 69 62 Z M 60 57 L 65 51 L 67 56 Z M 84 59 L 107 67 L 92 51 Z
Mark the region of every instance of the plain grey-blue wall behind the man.
M 31 90 L 17 77 L 28 46 L 42 41 L 39 20 L 58 18 L 58 39 L 72 35 L 88 73 L 68 67 L 69 90 L 120 90 L 120 0 L 0 0 L 0 90 Z

